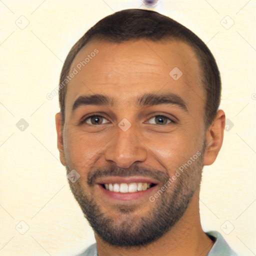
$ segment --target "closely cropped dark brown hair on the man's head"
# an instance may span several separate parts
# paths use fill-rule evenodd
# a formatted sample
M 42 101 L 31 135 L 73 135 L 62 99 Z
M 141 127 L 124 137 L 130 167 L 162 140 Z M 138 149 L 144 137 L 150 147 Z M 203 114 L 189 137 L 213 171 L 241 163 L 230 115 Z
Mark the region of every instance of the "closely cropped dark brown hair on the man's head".
M 205 90 L 204 124 L 207 128 L 216 116 L 220 103 L 221 81 L 216 61 L 206 44 L 191 30 L 156 11 L 125 9 L 99 20 L 70 49 L 60 73 L 59 85 L 68 76 L 71 63 L 79 50 L 92 39 L 121 43 L 128 40 L 181 40 L 195 51 Z M 62 83 L 63 84 L 63 83 Z M 66 84 L 67 86 L 67 84 Z M 59 87 L 61 124 L 64 125 L 66 86 Z

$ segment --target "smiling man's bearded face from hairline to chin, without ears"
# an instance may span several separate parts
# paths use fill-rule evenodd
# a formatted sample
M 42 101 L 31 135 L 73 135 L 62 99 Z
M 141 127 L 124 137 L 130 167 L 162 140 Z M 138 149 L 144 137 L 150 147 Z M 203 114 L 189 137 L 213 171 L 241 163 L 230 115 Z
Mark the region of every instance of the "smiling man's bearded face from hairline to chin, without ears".
M 98 53 L 80 67 L 95 48 Z M 72 62 L 70 72 L 78 73 L 67 87 L 60 159 L 67 173 L 79 173 L 76 182 L 69 181 L 74 197 L 94 231 L 111 244 L 157 239 L 180 219 L 199 189 L 205 96 L 193 56 L 180 41 L 92 41 Z M 72 110 L 79 96 L 95 94 L 111 97 L 112 105 L 77 103 Z M 171 94 L 172 103 L 151 98 L 136 104 L 144 94 Z M 201 155 L 191 161 L 197 151 Z M 173 180 L 180 166 L 183 171 Z M 168 178 L 171 185 L 162 191 Z M 106 189 L 110 183 L 115 191 Z

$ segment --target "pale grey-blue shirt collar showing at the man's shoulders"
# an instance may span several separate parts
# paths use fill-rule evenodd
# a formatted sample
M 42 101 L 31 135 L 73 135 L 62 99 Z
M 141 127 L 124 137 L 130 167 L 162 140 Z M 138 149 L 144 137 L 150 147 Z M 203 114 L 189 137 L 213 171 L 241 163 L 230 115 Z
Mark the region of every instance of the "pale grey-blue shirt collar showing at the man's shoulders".
M 216 239 L 207 256 L 238 256 L 218 231 L 209 231 L 206 234 Z M 98 256 L 97 244 L 91 244 L 84 252 L 77 256 Z

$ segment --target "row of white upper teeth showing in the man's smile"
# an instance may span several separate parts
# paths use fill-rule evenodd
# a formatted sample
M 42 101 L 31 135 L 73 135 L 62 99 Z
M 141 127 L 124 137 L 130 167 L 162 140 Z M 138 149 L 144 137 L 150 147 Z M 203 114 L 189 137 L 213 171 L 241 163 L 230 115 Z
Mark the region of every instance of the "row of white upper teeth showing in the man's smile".
M 121 192 L 121 193 L 127 193 L 127 192 L 136 192 L 136 191 L 141 191 L 141 190 L 146 190 L 151 186 L 151 183 L 109 183 L 109 184 L 104 184 L 105 189 L 109 191 L 114 191 L 114 192 Z

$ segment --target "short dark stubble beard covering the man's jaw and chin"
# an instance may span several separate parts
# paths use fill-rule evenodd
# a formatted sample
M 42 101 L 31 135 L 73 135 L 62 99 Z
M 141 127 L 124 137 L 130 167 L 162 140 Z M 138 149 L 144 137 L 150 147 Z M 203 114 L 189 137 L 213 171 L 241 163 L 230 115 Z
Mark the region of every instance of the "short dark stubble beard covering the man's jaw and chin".
M 94 184 L 93 180 L 87 179 L 85 182 L 78 179 L 75 183 L 68 180 L 69 186 L 90 226 L 105 242 L 123 247 L 142 246 L 157 240 L 169 231 L 185 212 L 195 190 L 200 186 L 204 149 L 205 144 L 201 150 L 201 155 L 184 169 L 154 202 L 149 200 L 146 202 L 149 205 L 149 210 L 144 215 L 139 214 L 139 212 L 134 214 L 139 206 L 135 203 L 129 206 L 116 203 L 112 205 L 114 214 L 115 216 L 121 214 L 121 218 L 116 220 L 111 212 L 108 215 L 104 213 L 106 208 L 97 203 L 98 200 L 95 200 L 95 197 L 88 190 L 82 189 L 90 181 L 90 185 Z M 70 170 L 71 168 L 66 165 L 67 173 Z M 135 165 L 129 172 L 116 166 L 111 166 L 110 169 L 109 167 L 104 168 L 104 173 L 112 173 L 113 171 L 120 175 L 148 173 L 148 170 L 136 168 Z M 163 172 L 161 175 L 161 185 L 166 184 L 169 176 Z M 93 177 L 90 172 L 88 172 L 89 176 L 90 178 Z M 84 182 L 83 186 L 81 185 L 82 181 Z

